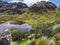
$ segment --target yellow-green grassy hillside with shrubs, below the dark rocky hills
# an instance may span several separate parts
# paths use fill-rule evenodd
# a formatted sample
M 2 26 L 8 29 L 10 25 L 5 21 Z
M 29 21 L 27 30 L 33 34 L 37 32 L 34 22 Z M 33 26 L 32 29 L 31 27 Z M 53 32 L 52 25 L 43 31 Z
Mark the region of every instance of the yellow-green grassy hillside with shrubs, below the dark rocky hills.
M 50 45 L 51 43 L 60 45 L 60 27 L 53 29 L 54 25 L 60 24 L 60 10 L 58 9 L 43 13 L 27 11 L 21 15 L 0 16 L 0 24 L 7 21 L 15 21 L 16 23 L 22 21 L 33 26 L 29 33 L 16 32 L 12 29 L 12 39 L 19 42 L 19 45 Z

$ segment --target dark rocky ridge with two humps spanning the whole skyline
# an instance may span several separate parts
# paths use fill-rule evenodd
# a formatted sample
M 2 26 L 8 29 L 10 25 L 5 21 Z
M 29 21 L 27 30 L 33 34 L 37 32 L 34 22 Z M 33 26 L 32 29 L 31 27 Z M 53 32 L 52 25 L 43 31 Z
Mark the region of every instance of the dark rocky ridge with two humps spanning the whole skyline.
M 26 11 L 35 12 L 35 13 L 44 13 L 48 11 L 54 11 L 57 9 L 57 6 L 52 2 L 41 1 L 33 4 L 28 7 L 25 3 L 8 3 L 0 2 L 0 13 L 7 14 L 23 14 Z

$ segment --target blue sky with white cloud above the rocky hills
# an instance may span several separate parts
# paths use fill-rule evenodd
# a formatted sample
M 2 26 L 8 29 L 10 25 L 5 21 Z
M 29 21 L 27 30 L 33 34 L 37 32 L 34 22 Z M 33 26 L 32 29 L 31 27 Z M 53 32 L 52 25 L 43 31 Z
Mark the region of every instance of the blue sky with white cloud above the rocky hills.
M 23 2 L 26 3 L 28 6 L 38 2 L 38 1 L 51 1 L 55 3 L 57 6 L 60 6 L 60 0 L 4 0 L 7 2 Z

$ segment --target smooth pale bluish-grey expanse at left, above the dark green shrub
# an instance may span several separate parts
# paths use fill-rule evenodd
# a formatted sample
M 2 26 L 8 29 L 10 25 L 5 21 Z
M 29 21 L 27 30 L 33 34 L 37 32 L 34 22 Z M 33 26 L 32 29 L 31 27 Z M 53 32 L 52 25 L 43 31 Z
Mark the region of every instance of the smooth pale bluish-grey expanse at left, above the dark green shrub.
M 10 24 L 10 22 L 5 22 L 3 24 L 0 24 L 0 32 L 5 31 L 6 29 L 10 30 L 12 28 L 20 31 L 29 32 L 32 29 L 32 26 L 27 23 L 18 25 L 18 24 Z

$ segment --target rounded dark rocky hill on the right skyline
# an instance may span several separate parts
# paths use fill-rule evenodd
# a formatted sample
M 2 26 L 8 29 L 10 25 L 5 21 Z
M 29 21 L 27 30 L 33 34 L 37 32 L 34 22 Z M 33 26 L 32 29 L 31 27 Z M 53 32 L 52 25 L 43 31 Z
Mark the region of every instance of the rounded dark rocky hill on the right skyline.
M 30 10 L 32 12 L 46 12 L 47 10 L 55 10 L 56 8 L 57 6 L 52 2 L 41 1 L 33 4 Z

